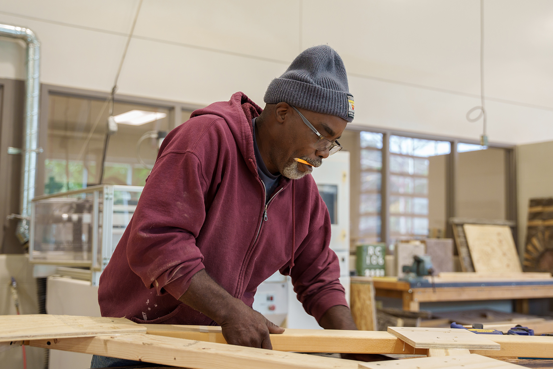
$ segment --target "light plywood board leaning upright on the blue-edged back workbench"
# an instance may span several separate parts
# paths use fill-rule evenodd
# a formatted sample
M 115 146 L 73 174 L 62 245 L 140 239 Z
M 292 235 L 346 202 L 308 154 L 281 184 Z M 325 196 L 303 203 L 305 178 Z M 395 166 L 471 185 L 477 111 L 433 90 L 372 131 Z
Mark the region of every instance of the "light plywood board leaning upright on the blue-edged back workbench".
M 522 272 L 509 226 L 465 224 L 463 229 L 475 272 Z

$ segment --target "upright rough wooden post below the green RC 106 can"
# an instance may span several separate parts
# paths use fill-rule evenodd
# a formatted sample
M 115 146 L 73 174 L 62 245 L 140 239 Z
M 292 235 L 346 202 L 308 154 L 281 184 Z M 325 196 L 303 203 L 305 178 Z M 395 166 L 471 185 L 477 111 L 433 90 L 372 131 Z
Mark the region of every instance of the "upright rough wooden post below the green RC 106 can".
M 351 315 L 357 325 L 357 329 L 364 331 L 377 330 L 377 308 L 372 278 L 351 278 L 349 296 L 351 300 Z

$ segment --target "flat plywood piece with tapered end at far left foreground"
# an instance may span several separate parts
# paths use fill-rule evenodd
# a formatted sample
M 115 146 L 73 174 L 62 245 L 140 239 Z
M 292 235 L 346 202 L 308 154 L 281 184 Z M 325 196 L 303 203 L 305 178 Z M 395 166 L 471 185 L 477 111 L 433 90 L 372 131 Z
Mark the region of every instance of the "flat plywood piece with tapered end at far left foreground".
M 124 318 L 48 314 L 0 316 L 0 342 L 145 332 L 144 327 Z

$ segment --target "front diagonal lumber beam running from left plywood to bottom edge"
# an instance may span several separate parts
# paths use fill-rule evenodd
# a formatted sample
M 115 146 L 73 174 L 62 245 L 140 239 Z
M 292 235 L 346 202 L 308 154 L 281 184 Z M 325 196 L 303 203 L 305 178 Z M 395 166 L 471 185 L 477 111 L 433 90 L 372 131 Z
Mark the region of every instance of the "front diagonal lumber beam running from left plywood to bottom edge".
M 30 345 L 192 369 L 357 369 L 359 363 L 149 334 L 34 340 Z

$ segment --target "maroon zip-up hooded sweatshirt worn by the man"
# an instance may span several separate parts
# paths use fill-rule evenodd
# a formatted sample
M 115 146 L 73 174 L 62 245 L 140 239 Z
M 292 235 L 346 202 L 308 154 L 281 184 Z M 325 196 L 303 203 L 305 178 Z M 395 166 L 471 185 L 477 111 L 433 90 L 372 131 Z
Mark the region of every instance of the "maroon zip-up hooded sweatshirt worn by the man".
M 330 217 L 311 175 L 281 177 L 265 206 L 252 118 L 242 92 L 196 110 L 164 139 L 137 209 L 100 278 L 102 316 L 138 323 L 215 325 L 178 299 L 206 272 L 252 306 L 258 285 L 288 275 L 319 321 L 346 305 Z

